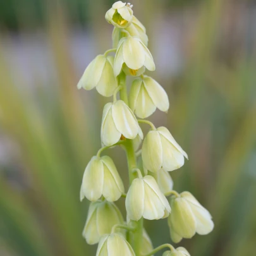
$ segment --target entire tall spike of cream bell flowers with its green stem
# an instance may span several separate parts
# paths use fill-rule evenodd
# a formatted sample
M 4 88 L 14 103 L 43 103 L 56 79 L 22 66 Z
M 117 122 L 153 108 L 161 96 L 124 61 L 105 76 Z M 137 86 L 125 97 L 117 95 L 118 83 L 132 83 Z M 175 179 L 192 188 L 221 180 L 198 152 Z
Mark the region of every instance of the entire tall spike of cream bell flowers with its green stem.
M 170 244 L 154 249 L 143 227 L 143 219 L 168 217 L 171 239 L 177 243 L 195 233 L 206 235 L 214 224 L 191 193 L 173 190 L 168 171 L 183 166 L 188 155 L 167 128 L 155 128 L 144 119 L 156 109 L 166 113 L 169 99 L 164 88 L 144 74 L 146 69 L 154 71 L 155 63 L 147 48 L 146 28 L 133 15 L 132 7 L 118 1 L 107 11 L 105 18 L 114 26 L 113 49 L 98 55 L 77 85 L 85 90 L 96 88 L 104 97 L 113 96 L 113 102 L 103 109 L 102 147 L 83 174 L 80 199 L 86 197 L 91 203 L 82 235 L 90 245 L 99 243 L 96 256 L 152 256 L 164 247 L 169 250 L 163 256 L 190 256 L 185 248 L 175 249 Z M 130 88 L 126 76 L 135 77 Z M 151 126 L 144 140 L 139 123 Z M 127 193 L 113 160 L 107 155 L 101 157 L 103 150 L 116 147 L 126 154 L 130 185 Z M 114 204 L 121 197 L 126 197 L 127 223 Z M 166 197 L 170 197 L 170 204 Z

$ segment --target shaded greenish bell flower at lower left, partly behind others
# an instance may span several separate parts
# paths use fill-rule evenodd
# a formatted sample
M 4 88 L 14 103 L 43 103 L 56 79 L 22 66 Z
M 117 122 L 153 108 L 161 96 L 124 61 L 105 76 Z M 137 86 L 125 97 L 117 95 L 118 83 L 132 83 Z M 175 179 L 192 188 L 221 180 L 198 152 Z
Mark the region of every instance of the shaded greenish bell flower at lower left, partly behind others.
M 114 203 L 106 200 L 91 202 L 83 237 L 89 245 L 94 245 L 99 243 L 101 236 L 110 234 L 116 224 L 123 224 L 123 217 Z

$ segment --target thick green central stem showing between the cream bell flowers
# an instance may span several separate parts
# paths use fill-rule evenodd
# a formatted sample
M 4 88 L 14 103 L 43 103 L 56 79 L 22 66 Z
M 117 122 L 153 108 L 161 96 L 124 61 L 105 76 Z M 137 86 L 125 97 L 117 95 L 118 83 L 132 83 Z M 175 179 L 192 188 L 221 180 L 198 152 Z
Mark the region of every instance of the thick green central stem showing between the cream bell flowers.
M 128 96 L 127 96 L 127 88 L 126 88 L 126 75 L 123 71 L 118 76 L 119 86 L 121 86 L 120 99 L 125 102 L 129 106 Z M 125 149 L 126 149 L 126 157 L 128 162 L 128 171 L 129 171 L 129 181 L 130 185 L 132 181 L 137 178 L 137 174 L 133 173 L 133 169 L 137 168 L 137 159 L 135 155 L 135 150 L 133 147 L 133 140 L 125 140 Z M 128 242 L 133 247 L 136 256 L 140 256 L 140 248 L 142 245 L 142 232 L 143 232 L 143 218 L 139 221 L 131 221 L 132 226 L 135 227 L 134 231 L 128 233 Z

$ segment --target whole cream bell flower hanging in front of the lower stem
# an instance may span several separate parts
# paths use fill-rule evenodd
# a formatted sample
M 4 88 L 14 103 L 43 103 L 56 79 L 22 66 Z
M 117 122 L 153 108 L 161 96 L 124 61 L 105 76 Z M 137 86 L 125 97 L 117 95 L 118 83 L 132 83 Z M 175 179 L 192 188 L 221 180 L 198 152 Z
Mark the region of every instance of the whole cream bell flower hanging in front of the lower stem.
M 171 207 L 152 176 L 136 178 L 125 200 L 126 212 L 133 221 L 168 217 Z

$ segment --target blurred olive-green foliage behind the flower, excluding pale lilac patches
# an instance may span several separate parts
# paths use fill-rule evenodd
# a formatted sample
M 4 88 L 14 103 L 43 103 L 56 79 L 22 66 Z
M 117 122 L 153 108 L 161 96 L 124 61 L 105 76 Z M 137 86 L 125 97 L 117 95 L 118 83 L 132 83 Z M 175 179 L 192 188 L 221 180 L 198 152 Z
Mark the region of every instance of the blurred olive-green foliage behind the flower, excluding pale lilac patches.
M 167 3 L 175 2 L 157 5 L 168 13 Z M 95 14 L 94 3 L 87 11 L 88 22 L 95 25 L 99 13 Z M 87 256 L 95 252 L 81 235 L 88 202 L 79 202 L 79 190 L 83 169 L 101 146 L 102 107 L 109 99 L 76 89 L 79 75 L 67 47 L 71 28 L 63 13 L 56 11 L 56 3 L 47 4 L 38 13 L 42 11 L 44 17 L 57 80 L 52 78 L 50 85 L 36 80 L 31 90 L 23 89 L 27 87 L 22 78 L 17 85 L 18 73 L 4 59 L 0 42 L 0 134 L 11 144 L 11 150 L 4 148 L 8 159 L 0 162 L 3 256 Z M 73 10 L 79 4 L 82 1 L 73 1 Z M 168 126 L 190 156 L 183 168 L 171 173 L 174 188 L 191 191 L 214 218 L 216 227 L 210 235 L 180 243 L 197 256 L 247 256 L 255 255 L 256 249 L 256 48 L 255 42 L 247 44 L 243 38 L 245 43 L 237 54 L 233 47 L 229 51 L 230 41 L 219 41 L 226 4 L 221 0 L 200 4 L 183 70 L 175 77 L 159 77 L 170 95 L 171 109 L 167 117 L 157 113 L 150 118 L 159 126 Z M 30 8 L 37 9 L 37 4 Z M 154 8 L 155 1 L 147 1 L 146 20 Z M 8 15 L 7 9 L 0 10 Z M 21 30 L 28 21 L 40 20 L 37 13 L 31 18 L 16 11 Z M 79 11 L 83 13 L 83 8 Z M 101 22 L 104 18 L 92 29 L 104 30 Z M 127 188 L 125 155 L 118 149 L 107 154 L 116 162 Z M 123 199 L 118 206 L 124 213 Z M 155 247 L 170 242 L 166 219 L 145 224 Z

